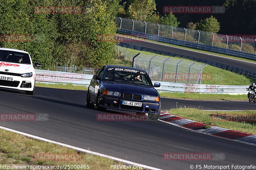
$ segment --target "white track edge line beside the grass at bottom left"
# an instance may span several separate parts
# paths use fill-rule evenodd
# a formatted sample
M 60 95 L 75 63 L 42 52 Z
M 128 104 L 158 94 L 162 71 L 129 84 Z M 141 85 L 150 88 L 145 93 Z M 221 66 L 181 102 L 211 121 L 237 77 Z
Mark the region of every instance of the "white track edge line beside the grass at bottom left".
M 53 143 L 53 144 L 58 144 L 58 145 L 65 146 L 65 147 L 68 147 L 68 148 L 71 148 L 71 149 L 75 149 L 77 151 L 81 151 L 81 152 L 90 153 L 90 154 L 93 154 L 93 155 L 113 159 L 113 160 L 120 161 L 120 162 L 123 162 L 123 163 L 127 163 L 127 164 L 130 164 L 130 165 L 138 165 L 138 166 L 141 166 L 141 167 L 144 167 L 144 168 L 147 168 L 147 169 L 152 169 L 152 170 L 163 170 L 163 169 L 155 168 L 155 167 L 152 167 L 152 166 L 147 166 L 147 165 L 139 164 L 139 163 L 136 163 L 136 162 L 132 162 L 132 161 L 129 161 L 129 160 L 125 160 L 125 159 L 105 155 L 105 154 L 102 154 L 102 153 L 99 153 L 99 152 L 89 151 L 87 149 L 79 148 L 79 147 L 72 146 L 72 145 L 69 145 L 69 144 L 63 144 L 63 143 L 56 142 L 56 141 L 46 139 L 46 138 L 43 138 L 43 137 L 38 137 L 38 136 L 31 135 L 31 134 L 24 133 L 24 132 L 20 132 L 20 131 L 14 130 L 14 129 L 5 128 L 3 126 L 0 126 L 0 129 L 4 129 L 4 130 L 8 130 L 8 131 L 11 131 L 11 132 L 14 132 L 14 133 L 18 133 L 18 134 L 21 134 L 21 135 L 32 137 L 32 138 L 35 138 L 35 139 L 38 139 L 38 140 L 41 140 L 41 141 L 50 142 L 50 143 Z

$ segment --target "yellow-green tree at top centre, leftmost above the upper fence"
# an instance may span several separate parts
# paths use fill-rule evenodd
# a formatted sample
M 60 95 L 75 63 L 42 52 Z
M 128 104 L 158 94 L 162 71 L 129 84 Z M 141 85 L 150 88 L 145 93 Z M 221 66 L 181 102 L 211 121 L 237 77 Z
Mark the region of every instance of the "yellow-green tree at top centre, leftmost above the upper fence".
M 134 0 L 128 7 L 127 13 L 131 19 L 148 21 L 148 17 L 152 16 L 156 10 L 154 0 Z

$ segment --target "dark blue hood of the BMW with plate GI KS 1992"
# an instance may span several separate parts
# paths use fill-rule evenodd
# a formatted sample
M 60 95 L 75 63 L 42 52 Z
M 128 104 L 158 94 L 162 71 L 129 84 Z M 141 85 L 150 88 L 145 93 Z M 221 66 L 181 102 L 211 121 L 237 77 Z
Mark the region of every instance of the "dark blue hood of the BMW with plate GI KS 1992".
M 157 90 L 148 85 L 140 85 L 136 83 L 120 82 L 120 81 L 102 81 L 102 82 L 106 85 L 107 90 L 158 96 Z

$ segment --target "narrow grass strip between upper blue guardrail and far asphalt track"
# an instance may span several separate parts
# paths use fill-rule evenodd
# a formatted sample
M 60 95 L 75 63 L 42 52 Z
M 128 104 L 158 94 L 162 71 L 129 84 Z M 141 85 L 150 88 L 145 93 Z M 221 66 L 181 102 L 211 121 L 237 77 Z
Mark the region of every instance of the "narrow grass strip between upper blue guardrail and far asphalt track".
M 116 35 L 134 38 L 131 35 L 125 35 L 125 34 L 120 34 L 120 33 L 116 33 Z M 199 50 L 199 49 L 194 49 L 194 48 L 188 48 L 188 47 L 168 44 L 168 43 L 164 43 L 164 42 L 146 40 L 146 39 L 139 39 L 139 40 L 155 42 L 155 43 L 158 43 L 158 44 L 168 45 L 168 46 L 171 46 L 171 47 L 178 47 L 178 48 L 188 49 L 188 50 L 191 50 L 191 51 L 196 51 L 196 52 L 201 52 L 201 53 L 206 53 L 206 54 L 212 54 L 212 55 L 218 55 L 218 56 L 222 56 L 222 57 L 233 58 L 233 59 L 236 59 L 236 60 L 242 60 L 242 61 L 247 61 L 247 62 L 251 62 L 251 63 L 256 63 L 255 60 L 250 60 L 250 59 L 241 58 L 241 57 L 235 57 L 235 56 L 231 56 L 231 55 L 219 54 L 219 53 L 214 53 L 214 52 L 210 52 L 210 51 L 204 51 L 204 50 Z M 124 43 L 129 43 L 129 42 L 124 42 Z

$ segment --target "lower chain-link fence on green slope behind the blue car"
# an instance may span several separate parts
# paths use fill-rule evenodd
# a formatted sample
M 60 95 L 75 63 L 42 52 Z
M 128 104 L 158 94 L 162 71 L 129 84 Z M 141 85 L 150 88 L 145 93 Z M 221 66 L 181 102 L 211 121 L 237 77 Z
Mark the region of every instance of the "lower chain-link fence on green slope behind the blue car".
M 140 54 L 133 67 L 146 70 L 151 80 L 183 84 L 201 84 L 205 65 L 158 55 Z

